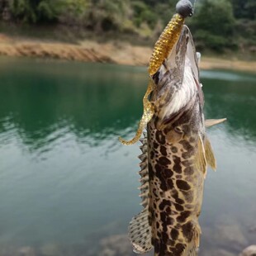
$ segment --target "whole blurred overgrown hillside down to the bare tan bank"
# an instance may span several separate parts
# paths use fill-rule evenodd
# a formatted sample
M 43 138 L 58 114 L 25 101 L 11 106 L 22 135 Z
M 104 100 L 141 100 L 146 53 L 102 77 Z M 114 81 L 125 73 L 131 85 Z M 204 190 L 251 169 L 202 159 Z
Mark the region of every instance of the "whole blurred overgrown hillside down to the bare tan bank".
M 128 41 L 154 45 L 175 12 L 173 0 L 0 0 L 0 31 L 38 40 Z M 256 59 L 254 0 L 197 0 L 187 19 L 206 55 Z

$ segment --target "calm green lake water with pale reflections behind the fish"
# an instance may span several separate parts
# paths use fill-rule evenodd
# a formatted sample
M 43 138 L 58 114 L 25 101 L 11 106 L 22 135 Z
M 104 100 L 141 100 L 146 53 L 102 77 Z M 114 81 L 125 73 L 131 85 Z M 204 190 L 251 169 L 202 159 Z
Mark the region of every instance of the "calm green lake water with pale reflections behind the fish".
M 0 255 L 133 255 L 145 68 L 0 59 Z M 256 76 L 201 72 L 217 172 L 208 171 L 201 256 L 256 243 Z M 28 251 L 31 254 L 28 254 Z M 25 252 L 25 253 L 24 253 Z

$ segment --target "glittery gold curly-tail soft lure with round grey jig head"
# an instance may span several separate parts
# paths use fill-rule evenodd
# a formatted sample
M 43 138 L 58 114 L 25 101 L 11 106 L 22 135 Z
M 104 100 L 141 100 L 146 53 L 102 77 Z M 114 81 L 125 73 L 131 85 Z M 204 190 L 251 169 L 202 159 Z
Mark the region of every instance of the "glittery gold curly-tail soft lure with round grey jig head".
M 168 54 L 173 50 L 173 45 L 177 42 L 181 31 L 183 29 L 183 24 L 187 16 L 192 16 L 192 5 L 188 0 L 181 0 L 177 3 L 176 14 L 173 15 L 171 21 L 165 27 L 159 40 L 154 45 L 154 50 L 149 59 L 149 76 L 153 76 L 156 73 L 161 64 L 163 64 L 164 59 L 167 58 Z M 143 97 L 143 116 L 141 117 L 139 128 L 132 140 L 124 140 L 119 137 L 119 140 L 123 145 L 132 145 L 140 140 L 145 126 L 151 120 L 154 115 L 154 106 L 149 102 L 149 94 L 154 90 L 154 82 L 150 78 L 149 85 L 145 96 Z

